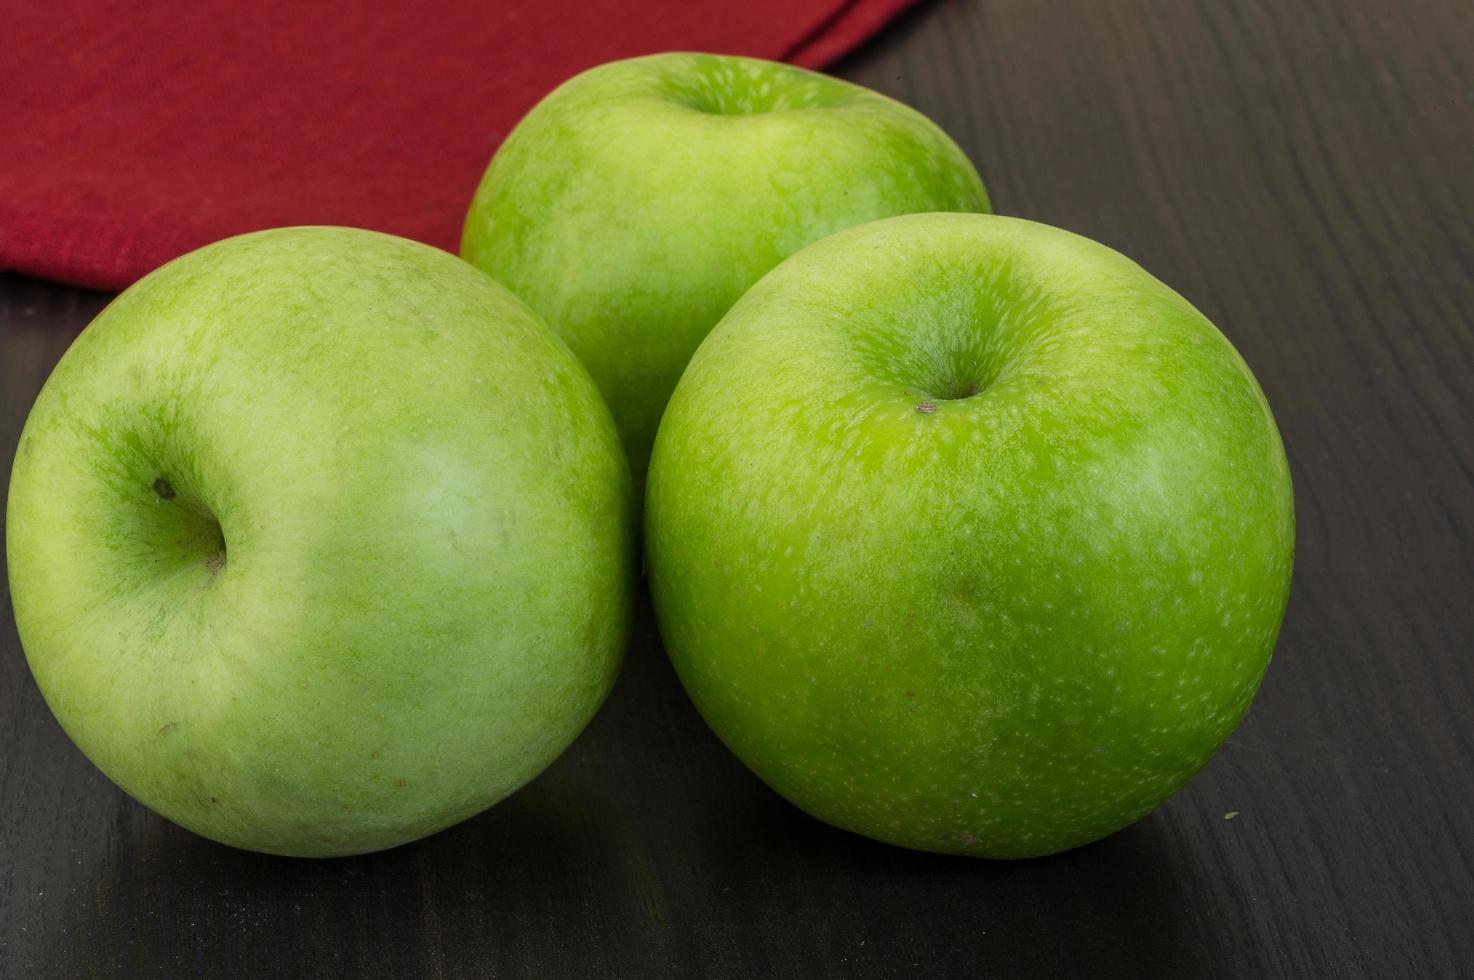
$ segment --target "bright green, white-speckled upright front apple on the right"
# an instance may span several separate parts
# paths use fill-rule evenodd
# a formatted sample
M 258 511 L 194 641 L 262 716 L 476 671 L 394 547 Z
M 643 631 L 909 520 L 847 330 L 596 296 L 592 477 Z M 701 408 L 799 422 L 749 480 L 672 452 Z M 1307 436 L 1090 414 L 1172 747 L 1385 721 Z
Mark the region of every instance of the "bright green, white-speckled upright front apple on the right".
M 706 339 L 646 548 L 685 690 L 774 790 L 1027 858 L 1234 729 L 1294 511 L 1263 393 L 1187 301 L 1066 231 L 914 215 L 799 252 Z

